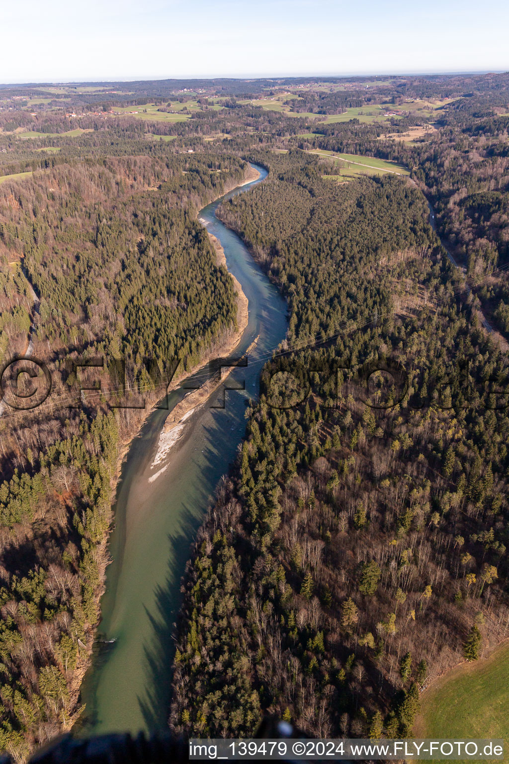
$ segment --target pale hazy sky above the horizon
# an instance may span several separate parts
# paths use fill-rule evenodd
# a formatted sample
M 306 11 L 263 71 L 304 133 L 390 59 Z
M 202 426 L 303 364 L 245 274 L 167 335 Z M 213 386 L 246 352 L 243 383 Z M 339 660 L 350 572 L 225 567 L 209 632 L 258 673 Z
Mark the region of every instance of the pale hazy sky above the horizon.
M 2 2 L 0 82 L 509 70 L 507 0 Z

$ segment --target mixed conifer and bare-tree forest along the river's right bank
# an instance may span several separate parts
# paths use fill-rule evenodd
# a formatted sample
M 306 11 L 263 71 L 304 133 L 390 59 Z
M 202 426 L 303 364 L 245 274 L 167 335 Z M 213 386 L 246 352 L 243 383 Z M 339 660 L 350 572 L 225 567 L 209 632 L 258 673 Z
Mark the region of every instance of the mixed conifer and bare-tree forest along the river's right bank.
M 507 358 L 417 188 L 265 161 L 221 217 L 306 349 L 266 366 L 188 565 L 172 726 L 250 735 L 268 709 L 312 736 L 407 735 L 419 689 L 507 633 Z

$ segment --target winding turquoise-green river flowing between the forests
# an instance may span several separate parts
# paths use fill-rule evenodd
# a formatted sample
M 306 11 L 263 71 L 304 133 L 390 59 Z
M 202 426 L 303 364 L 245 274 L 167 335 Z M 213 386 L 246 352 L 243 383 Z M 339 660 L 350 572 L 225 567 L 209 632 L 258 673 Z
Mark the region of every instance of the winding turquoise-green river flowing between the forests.
M 114 507 L 113 562 L 101 599 L 98 642 L 82 685 L 86 704 L 82 733 L 167 727 L 172 630 L 189 548 L 214 487 L 234 461 L 243 438 L 246 401 L 258 392 L 262 359 L 282 342 L 288 325 L 286 304 L 278 290 L 237 234 L 215 217 L 221 201 L 248 192 L 266 177 L 266 170 L 256 169 L 258 180 L 234 189 L 198 214 L 221 241 L 228 270 L 240 281 L 249 301 L 249 322 L 235 355 L 246 351 L 259 335 L 247 367 L 235 369 L 228 377 L 229 387 L 232 380 L 243 381 L 245 390 L 227 391 L 224 409 L 208 403 L 192 413 L 179 441 L 156 466 L 152 462 L 167 410 L 154 410 L 130 445 Z M 203 372 L 195 377 L 200 384 Z M 171 393 L 170 409 L 184 395 L 182 389 Z

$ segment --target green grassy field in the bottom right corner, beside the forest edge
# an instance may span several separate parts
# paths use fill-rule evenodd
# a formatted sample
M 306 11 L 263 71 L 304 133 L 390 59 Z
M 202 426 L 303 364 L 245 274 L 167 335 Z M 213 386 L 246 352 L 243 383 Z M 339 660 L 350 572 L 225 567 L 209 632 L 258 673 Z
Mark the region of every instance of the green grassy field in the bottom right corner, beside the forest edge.
M 459 666 L 421 698 L 416 737 L 504 738 L 509 745 L 509 643 L 485 661 Z M 509 761 L 506 751 L 504 761 Z

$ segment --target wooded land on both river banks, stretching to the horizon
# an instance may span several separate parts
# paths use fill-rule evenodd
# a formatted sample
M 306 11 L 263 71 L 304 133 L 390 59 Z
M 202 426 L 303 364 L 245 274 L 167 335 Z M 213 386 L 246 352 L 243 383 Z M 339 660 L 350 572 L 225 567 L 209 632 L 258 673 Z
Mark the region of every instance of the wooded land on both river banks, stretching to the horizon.
M 288 335 L 189 550 L 170 727 L 408 736 L 430 681 L 507 638 L 508 86 L 2 86 L 2 371 L 33 349 L 53 389 L 17 410 L 2 381 L 0 750 L 23 761 L 82 713 L 144 416 L 111 404 L 155 403 L 173 361 L 183 377 L 237 329 L 197 213 L 250 162 L 267 179 L 217 216 Z M 76 364 L 98 358 L 109 395 L 78 406 Z

